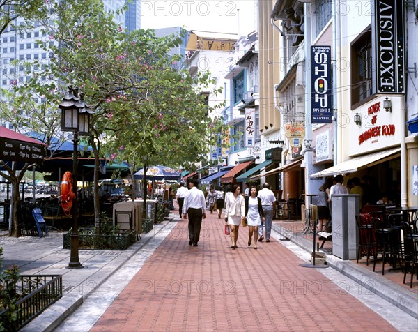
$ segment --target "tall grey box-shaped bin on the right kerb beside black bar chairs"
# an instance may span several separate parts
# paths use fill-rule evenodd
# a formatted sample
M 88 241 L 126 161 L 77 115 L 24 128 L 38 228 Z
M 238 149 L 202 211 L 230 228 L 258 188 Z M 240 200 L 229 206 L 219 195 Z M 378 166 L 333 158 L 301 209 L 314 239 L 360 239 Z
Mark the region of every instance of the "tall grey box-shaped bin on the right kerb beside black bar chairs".
M 357 259 L 359 234 L 355 215 L 359 213 L 359 195 L 332 195 L 332 255 Z

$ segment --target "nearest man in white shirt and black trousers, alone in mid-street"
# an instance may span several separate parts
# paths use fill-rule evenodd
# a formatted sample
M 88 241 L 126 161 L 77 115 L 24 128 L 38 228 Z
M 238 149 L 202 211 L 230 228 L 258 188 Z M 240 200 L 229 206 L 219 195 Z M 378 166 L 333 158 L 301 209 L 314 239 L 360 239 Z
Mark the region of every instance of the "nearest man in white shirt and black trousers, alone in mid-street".
M 202 218 L 206 218 L 205 194 L 198 188 L 199 181 L 192 179 L 189 182 L 189 193 L 185 197 L 183 206 L 183 218 L 189 216 L 189 246 L 197 247 L 200 239 Z

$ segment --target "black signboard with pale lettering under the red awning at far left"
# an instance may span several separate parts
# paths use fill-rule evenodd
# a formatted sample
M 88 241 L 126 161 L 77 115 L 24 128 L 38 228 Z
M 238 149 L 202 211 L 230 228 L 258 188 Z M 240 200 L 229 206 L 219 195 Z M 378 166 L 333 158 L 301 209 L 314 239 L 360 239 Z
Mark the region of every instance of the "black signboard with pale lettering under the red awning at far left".
M 45 146 L 43 145 L 0 137 L 0 160 L 40 164 L 44 156 Z

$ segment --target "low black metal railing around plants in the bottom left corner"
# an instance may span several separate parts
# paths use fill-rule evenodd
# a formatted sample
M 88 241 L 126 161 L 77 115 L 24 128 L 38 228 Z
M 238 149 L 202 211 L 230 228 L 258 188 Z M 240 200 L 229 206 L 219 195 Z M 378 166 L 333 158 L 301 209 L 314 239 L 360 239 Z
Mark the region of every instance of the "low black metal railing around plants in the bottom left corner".
M 21 275 L 20 282 L 17 282 L 16 285 L 16 292 L 24 297 L 16 302 L 15 311 L 17 316 L 13 321 L 13 329 L 21 329 L 22 326 L 28 324 L 49 305 L 63 296 L 62 276 Z M 10 315 L 8 311 L 9 308 L 6 308 L 6 310 L 0 312 L 0 319 L 3 315 Z

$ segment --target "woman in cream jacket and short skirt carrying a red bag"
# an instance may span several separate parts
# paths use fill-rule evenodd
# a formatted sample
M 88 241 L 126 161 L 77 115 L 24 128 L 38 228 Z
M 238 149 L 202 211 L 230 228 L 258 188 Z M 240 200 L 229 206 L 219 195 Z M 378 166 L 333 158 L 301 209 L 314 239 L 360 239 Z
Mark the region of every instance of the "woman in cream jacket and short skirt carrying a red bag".
M 232 186 L 231 194 L 225 197 L 225 222 L 228 222 L 229 228 L 231 229 L 232 250 L 238 248 L 238 233 L 242 217 L 244 216 L 244 211 L 242 211 L 244 197 L 240 193 L 240 186 L 235 184 Z

